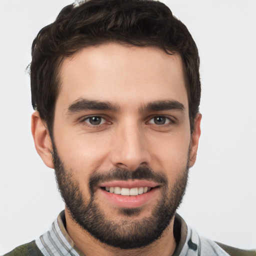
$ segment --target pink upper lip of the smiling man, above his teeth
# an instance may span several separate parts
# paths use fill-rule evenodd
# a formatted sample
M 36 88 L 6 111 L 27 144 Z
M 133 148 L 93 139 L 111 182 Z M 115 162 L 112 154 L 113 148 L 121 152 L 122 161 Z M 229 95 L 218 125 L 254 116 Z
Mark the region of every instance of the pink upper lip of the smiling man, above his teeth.
M 99 187 L 103 186 L 119 186 L 119 187 L 126 187 L 126 188 L 132 188 L 132 187 L 141 187 L 141 186 L 148 186 L 148 187 L 156 187 L 160 184 L 151 180 L 112 180 L 112 181 L 106 181 L 101 182 L 98 184 Z

